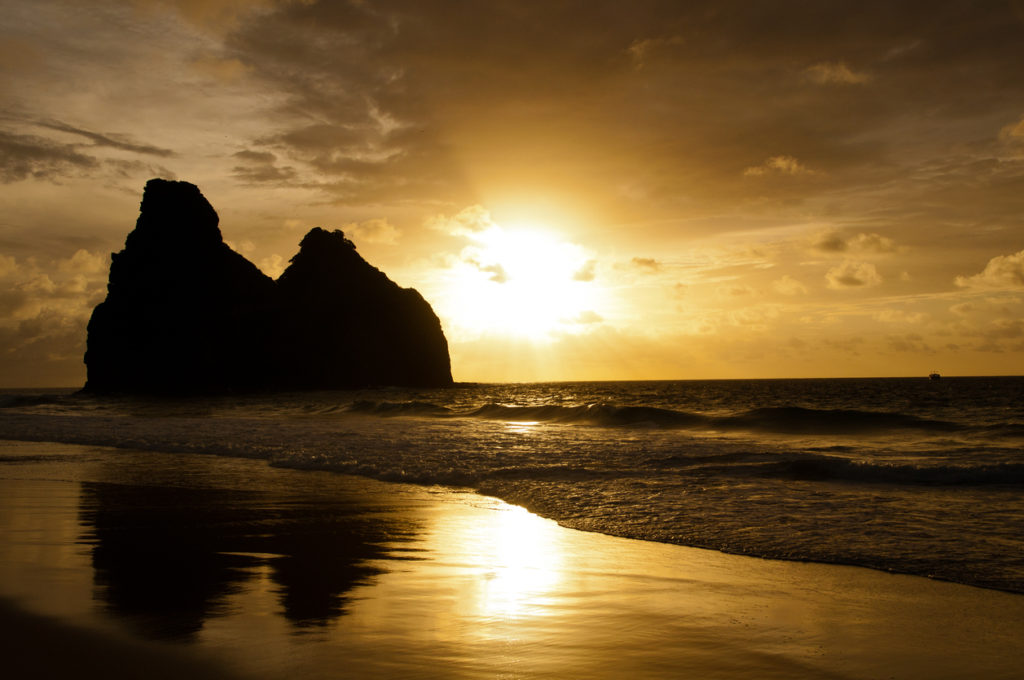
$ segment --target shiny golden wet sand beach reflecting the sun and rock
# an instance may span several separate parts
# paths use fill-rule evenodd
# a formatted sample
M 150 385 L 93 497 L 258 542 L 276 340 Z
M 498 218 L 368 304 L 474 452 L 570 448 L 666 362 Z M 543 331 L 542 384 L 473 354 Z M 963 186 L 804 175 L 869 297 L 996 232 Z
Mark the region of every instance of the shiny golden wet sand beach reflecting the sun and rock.
M 5 677 L 1017 678 L 1024 596 L 442 488 L 0 442 Z M 157 675 L 156 673 L 164 675 Z

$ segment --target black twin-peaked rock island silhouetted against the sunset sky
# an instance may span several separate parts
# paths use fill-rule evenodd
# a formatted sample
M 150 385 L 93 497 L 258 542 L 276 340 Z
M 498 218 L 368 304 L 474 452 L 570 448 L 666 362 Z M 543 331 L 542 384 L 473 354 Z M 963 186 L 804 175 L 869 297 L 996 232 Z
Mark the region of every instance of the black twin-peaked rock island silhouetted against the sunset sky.
M 151 179 L 89 321 L 85 389 L 211 393 L 452 384 L 429 303 L 314 228 L 276 282 L 187 182 Z

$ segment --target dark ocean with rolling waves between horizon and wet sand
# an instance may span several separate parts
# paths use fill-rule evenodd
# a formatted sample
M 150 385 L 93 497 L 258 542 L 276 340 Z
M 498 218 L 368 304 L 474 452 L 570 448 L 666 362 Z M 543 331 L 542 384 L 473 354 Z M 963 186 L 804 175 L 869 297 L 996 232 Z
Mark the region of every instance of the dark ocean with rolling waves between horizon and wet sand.
M 0 390 L 0 438 L 469 488 L 565 526 L 1024 593 L 1024 378 Z

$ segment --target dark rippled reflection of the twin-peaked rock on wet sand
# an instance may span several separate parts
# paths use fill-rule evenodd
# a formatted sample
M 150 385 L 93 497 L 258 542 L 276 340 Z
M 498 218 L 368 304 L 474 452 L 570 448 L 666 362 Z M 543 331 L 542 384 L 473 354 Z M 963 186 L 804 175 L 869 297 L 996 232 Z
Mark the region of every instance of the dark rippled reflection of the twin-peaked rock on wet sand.
M 416 527 L 337 496 L 84 482 L 80 541 L 112 613 L 148 637 L 187 640 L 269 564 L 297 628 L 345 613 Z

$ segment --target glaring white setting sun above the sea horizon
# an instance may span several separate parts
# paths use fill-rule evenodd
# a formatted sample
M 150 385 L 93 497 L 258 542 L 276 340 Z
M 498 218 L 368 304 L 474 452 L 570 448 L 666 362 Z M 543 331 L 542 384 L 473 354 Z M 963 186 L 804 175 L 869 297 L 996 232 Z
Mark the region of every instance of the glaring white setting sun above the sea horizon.
M 531 225 L 492 223 L 467 238 L 439 305 L 455 333 L 543 340 L 600 321 L 595 264 L 583 247 Z

